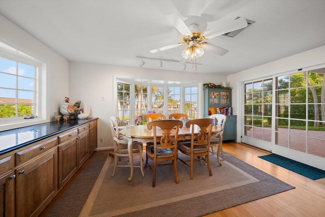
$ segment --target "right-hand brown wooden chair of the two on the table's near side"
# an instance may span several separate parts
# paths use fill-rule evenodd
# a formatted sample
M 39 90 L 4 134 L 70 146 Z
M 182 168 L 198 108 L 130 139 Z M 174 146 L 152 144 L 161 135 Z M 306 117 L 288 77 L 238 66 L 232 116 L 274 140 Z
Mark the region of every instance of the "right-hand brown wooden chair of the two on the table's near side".
M 191 179 L 193 179 L 194 161 L 204 160 L 208 167 L 209 175 L 212 176 L 212 171 L 210 167 L 209 144 L 213 122 L 214 119 L 212 118 L 200 118 L 187 121 L 185 126 L 186 128 L 191 128 L 191 141 L 180 141 L 177 144 L 178 150 L 180 150 L 183 154 L 190 156 L 190 160 L 182 160 L 180 158 L 178 159 L 190 167 Z M 194 134 L 194 128 L 200 129 L 199 135 Z M 188 164 L 187 162 L 190 162 L 190 164 Z

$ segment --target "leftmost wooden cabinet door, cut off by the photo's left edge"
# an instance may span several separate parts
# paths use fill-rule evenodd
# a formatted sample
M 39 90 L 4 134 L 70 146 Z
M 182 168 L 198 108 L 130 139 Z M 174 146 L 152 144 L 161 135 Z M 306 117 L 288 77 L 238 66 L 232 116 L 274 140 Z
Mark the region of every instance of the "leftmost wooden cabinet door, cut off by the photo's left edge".
M 13 172 L 0 177 L 0 216 L 15 216 L 14 181 Z

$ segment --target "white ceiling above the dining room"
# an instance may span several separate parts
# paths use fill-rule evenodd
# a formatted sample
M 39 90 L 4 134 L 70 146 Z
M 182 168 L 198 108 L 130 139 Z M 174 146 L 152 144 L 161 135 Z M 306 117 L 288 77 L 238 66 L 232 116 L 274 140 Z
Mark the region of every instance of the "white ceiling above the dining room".
M 229 75 L 325 45 L 325 1 L 32 1 L 0 0 L 0 13 L 69 61 L 139 67 L 136 56 L 179 60 L 186 46 L 149 50 L 182 42 L 166 19 L 179 14 L 202 32 L 236 17 L 255 21 L 234 38 L 208 42 L 228 49 L 206 51 L 198 73 Z M 1 26 L 0 26 L 1 30 Z M 144 59 L 143 68 L 182 71 L 181 65 Z M 187 66 L 186 71 L 192 71 Z

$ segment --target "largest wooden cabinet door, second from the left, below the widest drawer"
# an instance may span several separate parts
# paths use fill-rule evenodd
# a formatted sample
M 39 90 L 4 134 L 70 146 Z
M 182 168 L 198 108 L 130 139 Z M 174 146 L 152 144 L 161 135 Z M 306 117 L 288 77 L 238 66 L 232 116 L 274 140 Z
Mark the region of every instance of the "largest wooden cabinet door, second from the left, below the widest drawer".
M 16 216 L 37 216 L 57 192 L 57 148 L 25 164 L 16 174 Z

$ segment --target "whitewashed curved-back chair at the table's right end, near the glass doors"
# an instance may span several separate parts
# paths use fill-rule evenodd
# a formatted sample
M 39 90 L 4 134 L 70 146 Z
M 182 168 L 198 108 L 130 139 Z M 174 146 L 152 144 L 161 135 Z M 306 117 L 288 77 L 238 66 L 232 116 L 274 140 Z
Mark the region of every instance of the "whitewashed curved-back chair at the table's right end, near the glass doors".
M 218 162 L 220 162 L 219 161 L 220 154 L 221 154 L 222 160 L 224 160 L 223 151 L 222 151 L 222 136 L 223 136 L 223 129 L 224 129 L 224 125 L 225 125 L 227 116 L 225 116 L 224 114 L 212 114 L 212 115 L 210 115 L 210 118 L 214 119 L 215 125 L 221 128 L 220 134 L 217 137 L 212 136 L 211 140 L 210 140 L 210 148 L 211 148 L 210 153 L 211 153 L 211 155 L 217 155 Z M 213 150 L 214 146 L 218 146 L 218 150 L 216 152 Z M 222 164 L 220 162 L 220 166 L 221 165 Z

